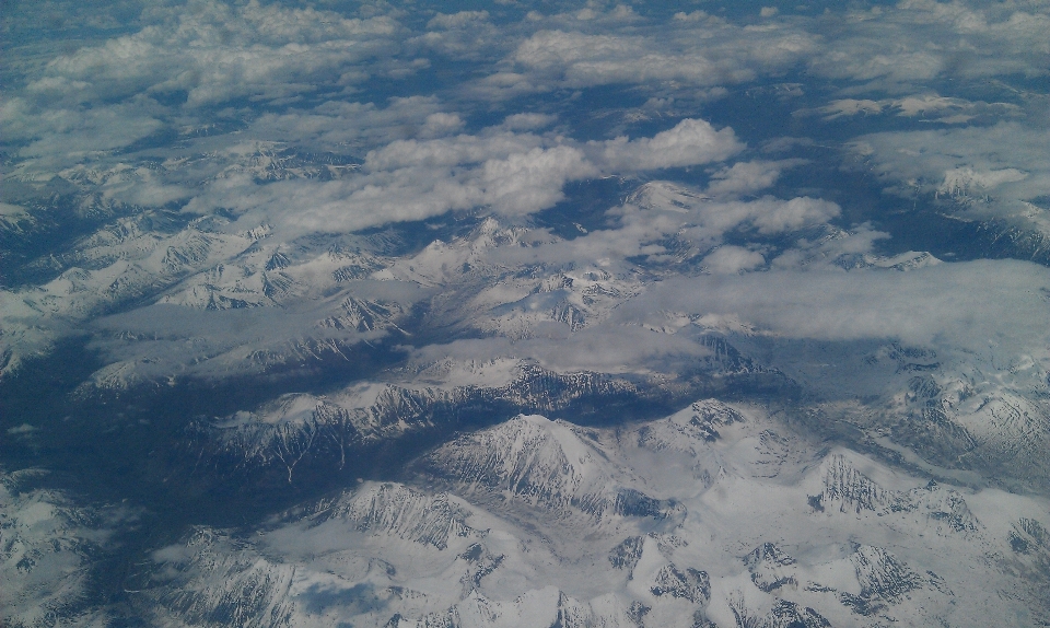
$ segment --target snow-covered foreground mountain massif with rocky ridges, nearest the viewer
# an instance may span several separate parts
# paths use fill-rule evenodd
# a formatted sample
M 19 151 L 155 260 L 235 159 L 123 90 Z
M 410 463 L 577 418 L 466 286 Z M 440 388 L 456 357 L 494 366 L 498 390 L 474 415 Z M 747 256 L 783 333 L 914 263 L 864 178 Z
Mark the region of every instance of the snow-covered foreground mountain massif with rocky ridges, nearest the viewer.
M 435 449 L 407 484 L 158 550 L 140 607 L 171 626 L 1050 619 L 1045 499 L 779 430 L 713 399 L 631 429 L 521 416 Z

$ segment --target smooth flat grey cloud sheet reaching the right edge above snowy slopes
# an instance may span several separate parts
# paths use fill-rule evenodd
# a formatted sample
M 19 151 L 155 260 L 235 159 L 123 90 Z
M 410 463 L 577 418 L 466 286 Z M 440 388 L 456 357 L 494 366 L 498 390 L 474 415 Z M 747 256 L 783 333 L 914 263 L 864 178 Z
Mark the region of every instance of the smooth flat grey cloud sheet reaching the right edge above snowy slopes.
M 1047 357 L 1050 270 L 1022 261 L 896 270 L 771 271 L 674 278 L 620 307 L 623 316 L 677 310 L 736 316 L 785 338 L 899 339 Z M 1050 365 L 1050 364 L 1048 364 Z

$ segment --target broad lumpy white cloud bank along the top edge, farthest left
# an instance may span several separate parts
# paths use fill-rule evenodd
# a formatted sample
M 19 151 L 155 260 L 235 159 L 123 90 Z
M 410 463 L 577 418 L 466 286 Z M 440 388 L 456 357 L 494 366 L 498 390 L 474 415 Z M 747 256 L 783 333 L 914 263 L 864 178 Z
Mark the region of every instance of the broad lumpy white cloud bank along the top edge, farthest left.
M 38 97 L 112 100 L 182 92 L 189 106 L 279 98 L 366 78 L 355 63 L 389 55 L 400 26 L 253 0 L 154 7 L 138 33 L 51 60 L 26 91 Z M 71 89 L 73 86 L 79 89 Z

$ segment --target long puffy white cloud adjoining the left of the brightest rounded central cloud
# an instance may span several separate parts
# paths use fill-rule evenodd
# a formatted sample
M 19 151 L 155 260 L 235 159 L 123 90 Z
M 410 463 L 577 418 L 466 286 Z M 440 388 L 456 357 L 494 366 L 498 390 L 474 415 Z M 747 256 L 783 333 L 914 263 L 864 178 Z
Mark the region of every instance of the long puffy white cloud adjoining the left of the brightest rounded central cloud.
M 529 133 L 398 140 L 370 151 L 360 175 L 269 185 L 231 176 L 212 183 L 186 210 L 222 207 L 245 223 L 268 222 L 285 234 L 353 231 L 476 207 L 530 213 L 561 200 L 565 182 L 598 172 L 580 149 Z

